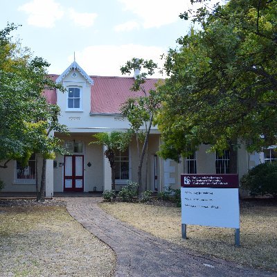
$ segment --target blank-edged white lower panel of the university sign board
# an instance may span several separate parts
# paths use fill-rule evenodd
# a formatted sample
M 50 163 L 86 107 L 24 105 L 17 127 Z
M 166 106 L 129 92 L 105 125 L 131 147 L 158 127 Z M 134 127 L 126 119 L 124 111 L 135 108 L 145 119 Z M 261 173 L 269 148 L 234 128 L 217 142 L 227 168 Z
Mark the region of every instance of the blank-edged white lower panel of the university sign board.
M 240 228 L 238 188 L 181 188 L 181 223 Z

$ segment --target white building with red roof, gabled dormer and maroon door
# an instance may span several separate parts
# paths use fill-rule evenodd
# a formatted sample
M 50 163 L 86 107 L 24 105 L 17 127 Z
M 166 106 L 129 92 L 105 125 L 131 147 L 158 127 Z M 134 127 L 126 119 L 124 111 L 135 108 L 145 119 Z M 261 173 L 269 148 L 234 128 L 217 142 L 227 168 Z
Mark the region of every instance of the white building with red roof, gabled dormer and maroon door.
M 64 139 L 65 146 L 73 154 L 57 155 L 54 161 L 47 161 L 46 197 L 57 192 L 93 192 L 111 189 L 111 168 L 105 158 L 105 149 L 93 141 L 93 134 L 125 131 L 128 121 L 120 115 L 120 105 L 129 97 L 142 95 L 129 88 L 133 78 L 89 76 L 73 62 L 61 75 L 51 75 L 53 80 L 62 83 L 66 93 L 45 91 L 49 102 L 57 103 L 61 109 L 59 122 L 67 125 L 70 136 L 55 133 Z M 145 89 L 154 88 L 155 79 L 145 83 Z M 217 153 L 206 153 L 208 145 L 200 145 L 199 151 L 184 159 L 181 163 L 163 160 L 157 156 L 161 138 L 157 127 L 152 127 L 148 148 L 148 170 L 145 161 L 143 181 L 148 190 L 162 191 L 169 185 L 179 188 L 181 173 L 228 173 L 229 154 L 223 157 Z M 116 157 L 116 188 L 127 184 L 127 180 L 137 181 L 139 159 L 136 142 L 132 141 L 124 153 Z M 238 150 L 238 174 L 244 173 L 258 163 L 274 160 L 274 152 L 249 154 L 244 148 Z M 33 155 L 26 168 L 16 161 L 10 161 L 8 168 L 0 168 L 0 179 L 6 184 L 3 192 L 35 192 L 35 163 L 41 168 L 41 161 L 35 161 Z M 146 174 L 147 172 L 147 174 Z

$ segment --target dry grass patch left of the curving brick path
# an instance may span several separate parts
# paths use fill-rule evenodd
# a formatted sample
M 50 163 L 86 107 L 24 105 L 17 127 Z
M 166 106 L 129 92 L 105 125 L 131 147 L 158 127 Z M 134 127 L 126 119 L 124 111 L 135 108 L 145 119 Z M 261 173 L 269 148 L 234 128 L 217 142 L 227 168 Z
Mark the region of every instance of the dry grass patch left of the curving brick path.
M 64 207 L 0 207 L 0 276 L 111 276 L 116 256 Z

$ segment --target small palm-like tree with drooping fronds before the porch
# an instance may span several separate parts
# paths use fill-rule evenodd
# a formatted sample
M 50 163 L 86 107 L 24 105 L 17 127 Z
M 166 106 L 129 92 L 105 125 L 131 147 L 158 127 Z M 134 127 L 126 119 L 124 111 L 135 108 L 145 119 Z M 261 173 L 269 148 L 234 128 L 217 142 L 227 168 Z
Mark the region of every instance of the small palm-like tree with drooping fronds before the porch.
M 91 141 L 91 143 L 105 145 L 107 148 L 104 153 L 111 166 L 111 189 L 116 190 L 116 152 L 122 152 L 127 149 L 132 139 L 132 132 L 123 133 L 113 131 L 110 133 L 98 133 L 94 134 L 93 138 L 96 141 Z

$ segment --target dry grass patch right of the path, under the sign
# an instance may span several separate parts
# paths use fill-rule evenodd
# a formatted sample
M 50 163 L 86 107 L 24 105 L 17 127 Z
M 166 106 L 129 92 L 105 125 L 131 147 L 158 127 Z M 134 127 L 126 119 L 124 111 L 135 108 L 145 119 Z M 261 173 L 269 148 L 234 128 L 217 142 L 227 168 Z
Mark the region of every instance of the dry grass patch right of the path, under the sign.
M 234 246 L 234 229 L 189 225 L 188 240 L 183 240 L 181 208 L 118 202 L 100 207 L 138 229 L 199 253 L 277 271 L 276 206 L 240 209 L 240 247 Z

